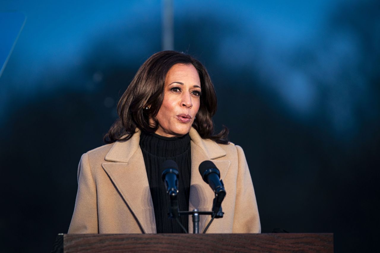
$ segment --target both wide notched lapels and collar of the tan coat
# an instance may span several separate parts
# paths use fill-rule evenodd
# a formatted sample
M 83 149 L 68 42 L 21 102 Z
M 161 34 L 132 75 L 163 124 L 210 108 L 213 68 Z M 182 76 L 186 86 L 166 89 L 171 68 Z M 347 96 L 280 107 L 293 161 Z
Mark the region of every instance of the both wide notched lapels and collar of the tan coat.
M 136 216 L 139 225 L 145 233 L 155 233 L 155 215 L 152 196 L 150 195 L 144 157 L 139 147 L 141 131 L 136 129 L 128 141 L 117 141 L 107 153 L 103 169 L 122 195 L 124 201 Z M 191 179 L 189 210 L 209 211 L 212 208 L 214 192 L 199 174 L 199 164 L 204 160 L 214 160 L 226 155 L 216 142 L 202 139 L 198 132 L 191 128 Z M 214 161 L 224 179 L 230 167 L 229 160 Z M 199 229 L 205 227 L 206 216 L 201 215 Z M 189 217 L 188 229 L 192 232 L 193 224 Z

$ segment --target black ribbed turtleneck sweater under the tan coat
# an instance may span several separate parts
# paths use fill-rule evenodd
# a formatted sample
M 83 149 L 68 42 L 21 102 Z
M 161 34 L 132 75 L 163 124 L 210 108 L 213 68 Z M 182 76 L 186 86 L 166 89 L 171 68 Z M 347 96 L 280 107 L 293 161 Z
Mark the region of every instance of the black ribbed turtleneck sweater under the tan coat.
M 179 169 L 178 204 L 180 211 L 188 211 L 191 174 L 190 136 L 163 137 L 155 133 L 140 135 L 140 147 L 148 182 L 152 195 L 157 233 L 183 233 L 175 220 L 168 218 L 169 197 L 166 195 L 165 183 L 161 179 L 161 164 L 174 160 Z M 188 216 L 180 216 L 182 225 L 188 228 Z

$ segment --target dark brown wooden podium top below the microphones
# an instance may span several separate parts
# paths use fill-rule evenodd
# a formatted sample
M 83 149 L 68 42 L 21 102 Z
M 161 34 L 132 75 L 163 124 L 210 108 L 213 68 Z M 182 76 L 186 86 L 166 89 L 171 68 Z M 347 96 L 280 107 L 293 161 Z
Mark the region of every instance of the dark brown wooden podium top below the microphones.
M 51 252 L 333 252 L 333 234 L 58 234 Z

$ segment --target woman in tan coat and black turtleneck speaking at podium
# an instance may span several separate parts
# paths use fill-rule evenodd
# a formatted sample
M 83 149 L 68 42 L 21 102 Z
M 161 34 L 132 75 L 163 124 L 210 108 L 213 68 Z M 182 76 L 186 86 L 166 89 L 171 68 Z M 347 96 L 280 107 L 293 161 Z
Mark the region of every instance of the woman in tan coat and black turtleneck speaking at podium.
M 211 160 L 220 170 L 224 217 L 208 233 L 258 233 L 260 220 L 250 172 L 228 130 L 213 134 L 217 108 L 204 66 L 187 54 L 163 51 L 139 68 L 117 106 L 109 144 L 82 155 L 69 233 L 182 232 L 167 217 L 168 197 L 160 164 L 179 166 L 179 209 L 210 211 L 214 192 L 198 172 Z M 200 217 L 202 232 L 210 216 Z M 181 223 L 192 231 L 187 216 Z

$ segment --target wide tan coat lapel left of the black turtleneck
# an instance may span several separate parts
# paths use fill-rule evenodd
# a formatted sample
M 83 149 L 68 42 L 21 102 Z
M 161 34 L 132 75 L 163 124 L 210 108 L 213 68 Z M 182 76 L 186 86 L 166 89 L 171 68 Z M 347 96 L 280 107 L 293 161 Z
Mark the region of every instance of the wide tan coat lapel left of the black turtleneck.
M 140 132 L 129 141 L 115 142 L 105 157 L 103 169 L 135 215 L 144 233 L 156 233 L 152 196 L 144 157 L 139 148 Z

